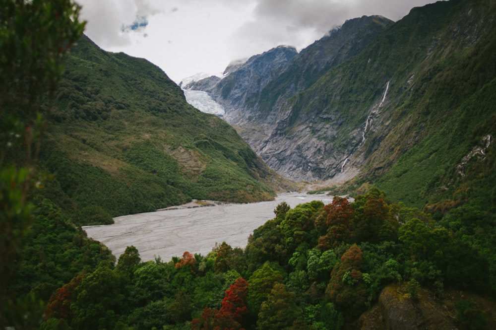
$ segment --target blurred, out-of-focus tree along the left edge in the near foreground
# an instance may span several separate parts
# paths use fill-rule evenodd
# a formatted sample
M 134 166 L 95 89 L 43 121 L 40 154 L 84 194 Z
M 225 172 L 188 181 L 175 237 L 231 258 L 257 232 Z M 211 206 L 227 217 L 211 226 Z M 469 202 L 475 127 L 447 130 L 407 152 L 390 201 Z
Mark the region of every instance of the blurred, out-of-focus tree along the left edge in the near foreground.
M 6 307 L 6 285 L 34 221 L 27 197 L 41 186 L 36 159 L 62 59 L 84 23 L 71 0 L 0 0 L 0 7 L 0 306 Z M 14 305 L 20 311 L 20 301 Z M 14 312 L 6 324 L 8 313 L 1 309 L 0 328 L 32 327 L 24 312 Z

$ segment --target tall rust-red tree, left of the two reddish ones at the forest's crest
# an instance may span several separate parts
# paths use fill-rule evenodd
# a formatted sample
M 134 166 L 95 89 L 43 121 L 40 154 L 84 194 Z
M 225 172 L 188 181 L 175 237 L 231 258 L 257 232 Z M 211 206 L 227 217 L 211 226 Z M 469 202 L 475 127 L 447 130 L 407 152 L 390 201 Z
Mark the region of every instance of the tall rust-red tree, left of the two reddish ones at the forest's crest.
M 327 233 L 321 236 L 318 247 L 321 250 L 329 250 L 342 242 L 350 243 L 353 240 L 353 208 L 347 198 L 334 196 L 332 203 L 325 205 L 327 213 Z

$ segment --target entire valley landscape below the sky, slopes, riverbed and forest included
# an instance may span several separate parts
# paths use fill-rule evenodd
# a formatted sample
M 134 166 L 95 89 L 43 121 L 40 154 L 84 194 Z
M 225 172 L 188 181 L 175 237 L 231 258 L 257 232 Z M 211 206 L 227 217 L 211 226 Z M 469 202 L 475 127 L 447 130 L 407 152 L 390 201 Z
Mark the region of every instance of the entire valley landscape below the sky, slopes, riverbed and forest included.
M 496 328 L 494 0 L 179 85 L 2 5 L 0 329 Z

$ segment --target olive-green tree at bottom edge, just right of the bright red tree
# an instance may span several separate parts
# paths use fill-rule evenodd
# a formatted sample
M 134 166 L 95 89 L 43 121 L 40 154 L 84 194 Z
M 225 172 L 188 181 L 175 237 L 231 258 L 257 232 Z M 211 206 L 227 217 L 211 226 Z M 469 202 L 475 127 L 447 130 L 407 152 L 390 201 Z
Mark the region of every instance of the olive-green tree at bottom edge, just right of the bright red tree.
M 302 316 L 302 310 L 296 305 L 296 294 L 286 290 L 282 283 L 275 283 L 267 301 L 264 301 L 258 313 L 258 330 L 282 330 L 293 326 Z

